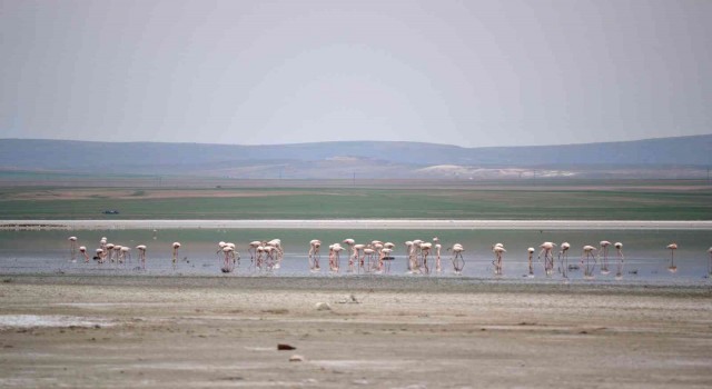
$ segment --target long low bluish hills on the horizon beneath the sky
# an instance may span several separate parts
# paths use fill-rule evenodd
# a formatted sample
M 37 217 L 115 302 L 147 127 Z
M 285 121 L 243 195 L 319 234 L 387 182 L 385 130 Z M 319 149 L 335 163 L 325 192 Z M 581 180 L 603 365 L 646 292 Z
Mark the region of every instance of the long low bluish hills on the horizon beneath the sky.
M 376 141 L 226 146 L 0 139 L 3 171 L 235 178 L 521 178 L 701 171 L 710 164 L 712 134 L 490 148 Z

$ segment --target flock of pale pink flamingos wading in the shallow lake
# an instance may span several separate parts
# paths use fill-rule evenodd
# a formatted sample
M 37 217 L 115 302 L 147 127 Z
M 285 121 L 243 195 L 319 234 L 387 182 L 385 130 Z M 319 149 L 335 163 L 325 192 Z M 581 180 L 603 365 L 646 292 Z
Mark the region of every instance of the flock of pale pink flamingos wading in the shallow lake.
M 70 256 L 71 261 L 75 262 L 77 260 L 77 251 L 82 255 L 85 258 L 85 262 L 90 261 L 89 253 L 87 252 L 87 248 L 85 246 L 77 247 L 77 237 L 69 237 L 70 243 Z M 354 239 L 344 239 L 342 242 L 336 242 L 329 245 L 328 247 L 328 269 L 332 272 L 340 271 L 340 252 L 346 250 L 342 243 L 346 245 L 348 248 L 348 268 L 347 272 L 373 272 L 373 273 L 388 273 L 390 271 L 390 262 L 395 260 L 393 257 L 396 245 L 393 242 L 382 242 L 379 240 L 373 240 L 369 243 L 356 243 Z M 443 246 L 439 243 L 438 238 L 433 238 L 433 241 L 424 241 L 421 239 L 408 240 L 405 243 L 405 251 L 407 256 L 407 271 L 408 273 L 429 273 L 432 271 L 434 265 L 435 272 L 443 271 L 443 263 L 441 258 L 441 251 Z M 599 242 L 599 248 L 586 245 L 583 247 L 581 255 L 581 268 L 583 268 L 584 278 L 591 279 L 594 277 L 596 266 L 600 266 L 601 275 L 609 275 L 610 270 L 610 258 L 609 258 L 609 248 L 613 246 L 616 250 L 615 257 L 615 278 L 620 279 L 623 277 L 623 265 L 625 262 L 625 257 L 623 256 L 623 243 L 615 242 L 611 243 L 607 240 L 602 240 Z M 543 259 L 544 272 L 547 277 L 553 276 L 554 267 L 556 260 L 558 261 L 558 273 L 567 279 L 568 271 L 572 269 L 578 269 L 577 265 L 568 263 L 568 251 L 571 249 L 571 245 L 568 242 L 563 242 L 558 246 L 560 250 L 557 252 L 556 259 L 554 258 L 554 249 L 557 247 L 556 243 L 553 242 L 543 242 L 540 245 L 540 252 L 537 256 L 537 260 Z M 146 245 L 138 245 L 136 249 L 139 252 L 139 263 L 141 269 L 146 269 Z M 180 249 L 180 242 L 172 243 L 172 266 L 176 268 L 176 261 L 178 257 L 178 249 Z M 318 272 L 322 270 L 320 266 L 320 249 L 322 241 L 318 239 L 314 239 L 309 241 L 309 250 L 307 252 L 307 260 L 309 270 L 312 272 Z M 675 250 L 678 249 L 678 243 L 670 243 L 666 246 L 666 249 L 670 250 L 670 266 L 668 270 L 670 272 L 676 272 L 678 267 L 675 266 Z M 284 249 L 281 246 L 281 240 L 271 239 L 271 240 L 256 240 L 248 243 L 247 251 L 250 255 L 250 269 L 255 270 L 274 270 L 279 269 L 281 266 L 281 260 L 284 258 Z M 452 252 L 449 257 L 449 262 L 453 267 L 453 272 L 455 275 L 461 275 L 463 268 L 465 267 L 465 259 L 463 257 L 463 252 L 465 251 L 463 245 L 454 243 L 452 247 L 447 248 L 448 252 Z M 503 243 L 495 243 L 492 246 L 492 252 L 494 253 L 494 260 L 492 265 L 494 267 L 495 276 L 504 275 L 504 253 L 507 250 L 504 248 Z M 536 250 L 533 247 L 527 249 L 528 253 L 528 277 L 534 277 L 534 263 L 533 256 Z M 710 253 L 710 260 L 708 262 L 708 275 L 712 275 L 712 247 L 708 250 Z M 233 242 L 218 242 L 218 250 L 216 252 L 217 256 L 220 257 L 222 265 L 220 270 L 222 272 L 233 272 L 236 267 L 239 266 L 240 255 L 237 252 L 237 246 Z M 93 260 L 97 260 L 99 263 L 105 263 L 107 261 L 125 263 L 126 261 L 131 261 L 131 248 L 127 246 L 113 245 L 107 241 L 106 237 L 102 237 L 99 241 L 99 247 L 95 250 Z M 433 263 L 434 262 L 434 263 Z

